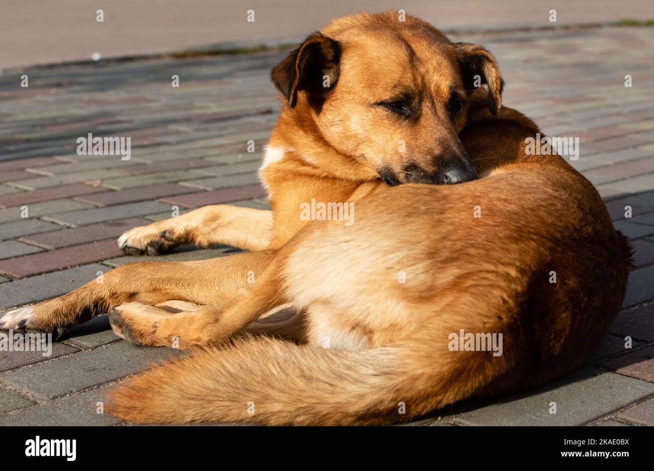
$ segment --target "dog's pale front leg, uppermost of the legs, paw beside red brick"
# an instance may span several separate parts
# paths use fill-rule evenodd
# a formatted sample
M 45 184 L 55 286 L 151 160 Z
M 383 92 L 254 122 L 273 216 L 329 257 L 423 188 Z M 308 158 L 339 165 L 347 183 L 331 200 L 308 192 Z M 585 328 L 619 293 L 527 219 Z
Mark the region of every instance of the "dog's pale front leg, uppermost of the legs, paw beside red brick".
M 270 211 L 215 204 L 129 229 L 116 244 L 125 252 L 147 255 L 169 252 L 181 244 L 227 244 L 245 250 L 265 250 L 272 231 Z

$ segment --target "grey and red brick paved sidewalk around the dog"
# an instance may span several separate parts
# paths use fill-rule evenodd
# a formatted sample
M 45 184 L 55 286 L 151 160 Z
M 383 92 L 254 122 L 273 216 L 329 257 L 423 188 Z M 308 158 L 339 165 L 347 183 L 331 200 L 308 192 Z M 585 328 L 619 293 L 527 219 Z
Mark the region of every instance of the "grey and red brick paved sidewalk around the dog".
M 581 139 L 572 164 L 632 238 L 638 270 L 623 312 L 587 367 L 518 397 L 458 404 L 441 419 L 417 423 L 654 425 L 654 29 L 455 39 L 483 42 L 498 57 L 506 105 L 547 135 Z M 0 314 L 130 261 L 230 253 L 216 247 L 127 257 L 114 240 L 170 217 L 173 206 L 267 208 L 255 171 L 278 109 L 267 74 L 281 57 L 92 63 L 0 75 Z M 28 88 L 20 87 L 22 74 Z M 173 74 L 179 88 L 171 86 Z M 625 88 L 625 74 L 632 88 Z M 76 140 L 87 133 L 131 137 L 131 159 L 77 155 Z M 249 140 L 255 152 L 247 152 Z M 95 413 L 103 391 L 175 354 L 126 344 L 106 316 L 54 344 L 48 358 L 0 352 L 0 425 L 116 424 Z M 557 414 L 549 413 L 551 402 Z

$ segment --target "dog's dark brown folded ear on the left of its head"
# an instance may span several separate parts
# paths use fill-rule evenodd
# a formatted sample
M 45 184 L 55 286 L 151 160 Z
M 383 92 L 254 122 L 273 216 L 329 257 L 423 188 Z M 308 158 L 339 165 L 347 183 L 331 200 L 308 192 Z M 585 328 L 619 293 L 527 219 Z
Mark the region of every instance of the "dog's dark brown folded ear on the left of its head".
M 322 33 L 313 33 L 273 67 L 270 78 L 288 106 L 294 108 L 300 90 L 309 93 L 311 98 L 324 99 L 334 89 L 340 58 L 341 46 L 337 41 Z

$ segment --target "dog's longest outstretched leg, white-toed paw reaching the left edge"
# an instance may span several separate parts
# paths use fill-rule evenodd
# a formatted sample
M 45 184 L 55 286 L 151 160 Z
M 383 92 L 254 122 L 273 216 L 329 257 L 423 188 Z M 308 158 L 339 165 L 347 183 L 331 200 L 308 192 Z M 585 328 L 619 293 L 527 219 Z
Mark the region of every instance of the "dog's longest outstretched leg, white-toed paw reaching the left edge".
M 71 293 L 7 312 L 0 329 L 53 331 L 126 302 L 216 304 L 260 276 L 274 255 L 264 250 L 202 261 L 129 263 Z

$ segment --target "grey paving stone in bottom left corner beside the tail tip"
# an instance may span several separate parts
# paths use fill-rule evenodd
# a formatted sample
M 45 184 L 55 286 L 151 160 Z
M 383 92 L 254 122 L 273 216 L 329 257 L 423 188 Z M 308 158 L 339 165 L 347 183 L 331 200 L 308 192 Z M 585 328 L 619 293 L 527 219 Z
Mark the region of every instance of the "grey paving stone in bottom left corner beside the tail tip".
M 17 414 L 0 417 L 0 426 L 20 427 L 75 427 L 78 425 L 116 425 L 116 417 L 103 412 L 102 404 L 107 400 L 105 389 L 94 389 L 77 396 L 65 397 L 42 404 Z M 99 405 L 98 403 L 101 403 Z M 98 414 L 98 411 L 103 412 Z

